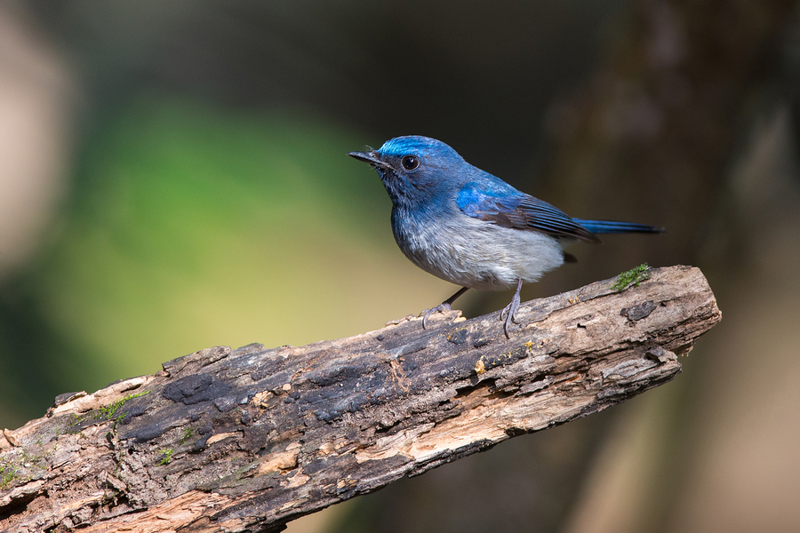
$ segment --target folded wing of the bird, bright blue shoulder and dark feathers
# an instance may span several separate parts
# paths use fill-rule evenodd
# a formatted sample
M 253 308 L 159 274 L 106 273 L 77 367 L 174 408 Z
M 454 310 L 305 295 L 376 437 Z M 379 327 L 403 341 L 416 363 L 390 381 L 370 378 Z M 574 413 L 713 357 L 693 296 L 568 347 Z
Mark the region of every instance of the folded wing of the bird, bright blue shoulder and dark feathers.
M 464 214 L 502 227 L 535 229 L 557 237 L 600 242 L 596 235 L 580 226 L 564 211 L 505 183 L 502 186 L 468 183 L 461 187 L 456 203 Z

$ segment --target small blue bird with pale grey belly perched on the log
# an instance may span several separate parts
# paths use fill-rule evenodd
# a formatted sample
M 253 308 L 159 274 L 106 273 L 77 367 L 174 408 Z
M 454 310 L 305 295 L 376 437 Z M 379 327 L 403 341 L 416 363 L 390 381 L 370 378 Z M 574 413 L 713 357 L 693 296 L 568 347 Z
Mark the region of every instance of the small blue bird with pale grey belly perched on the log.
M 426 309 L 422 326 L 450 311 L 468 289 L 503 290 L 516 285 L 500 314 L 508 337 L 516 322 L 523 283 L 575 260 L 562 244 L 600 243 L 596 234 L 660 233 L 661 227 L 610 220 L 572 219 L 464 161 L 444 142 L 419 135 L 397 137 L 369 152 L 348 155 L 369 163 L 392 200 L 392 232 L 417 267 L 461 289 Z

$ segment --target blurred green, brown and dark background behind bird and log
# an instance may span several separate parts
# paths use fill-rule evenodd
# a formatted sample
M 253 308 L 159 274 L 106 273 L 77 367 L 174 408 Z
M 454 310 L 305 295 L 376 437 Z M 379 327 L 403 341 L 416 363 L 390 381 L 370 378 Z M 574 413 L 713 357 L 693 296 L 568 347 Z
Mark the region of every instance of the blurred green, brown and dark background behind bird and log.
M 0 427 L 450 296 L 346 155 L 424 134 L 572 216 L 668 228 L 576 247 L 524 299 L 688 264 L 723 322 L 666 386 L 289 530 L 800 530 L 798 96 L 796 2 L 4 0 Z

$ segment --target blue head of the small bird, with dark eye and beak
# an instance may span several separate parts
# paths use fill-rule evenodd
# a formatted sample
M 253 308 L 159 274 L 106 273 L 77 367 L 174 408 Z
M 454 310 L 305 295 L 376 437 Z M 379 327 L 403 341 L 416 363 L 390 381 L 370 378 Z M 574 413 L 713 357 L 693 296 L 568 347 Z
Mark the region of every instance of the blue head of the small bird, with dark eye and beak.
M 472 168 L 452 147 L 420 135 L 396 137 L 377 150 L 348 155 L 372 165 L 392 202 L 409 208 L 457 191 Z

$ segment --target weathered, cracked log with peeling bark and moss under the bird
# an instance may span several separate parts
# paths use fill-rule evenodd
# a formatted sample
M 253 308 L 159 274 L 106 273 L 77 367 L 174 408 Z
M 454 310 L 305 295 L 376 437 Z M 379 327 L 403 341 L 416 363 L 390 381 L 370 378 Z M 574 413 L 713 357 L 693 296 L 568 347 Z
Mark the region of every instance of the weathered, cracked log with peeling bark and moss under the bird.
M 674 378 L 720 320 L 700 270 L 498 314 L 213 347 L 0 436 L 0 529 L 264 531 Z

